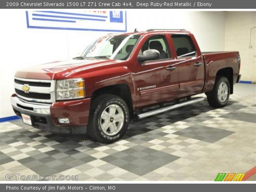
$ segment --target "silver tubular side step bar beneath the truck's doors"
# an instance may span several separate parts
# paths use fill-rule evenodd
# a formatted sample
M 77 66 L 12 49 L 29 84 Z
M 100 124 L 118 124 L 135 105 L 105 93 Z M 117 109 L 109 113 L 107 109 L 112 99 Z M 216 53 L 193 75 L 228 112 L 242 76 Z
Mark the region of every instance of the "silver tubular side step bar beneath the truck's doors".
M 186 106 L 186 105 L 194 104 L 196 102 L 200 102 L 200 101 L 203 101 L 203 100 L 204 100 L 204 97 L 192 98 L 188 101 L 184 101 L 184 102 L 179 103 L 179 104 L 175 104 L 175 105 L 172 105 L 172 106 L 168 106 L 168 107 L 152 110 L 152 111 L 149 111 L 149 112 L 145 112 L 145 113 L 142 113 L 142 114 L 138 114 L 138 118 L 142 119 L 142 118 L 145 118 L 145 117 L 148 117 L 148 116 L 151 116 L 151 115 L 166 112 L 166 111 L 176 109 L 176 108 L 180 108 L 180 107 L 183 107 L 183 106 Z

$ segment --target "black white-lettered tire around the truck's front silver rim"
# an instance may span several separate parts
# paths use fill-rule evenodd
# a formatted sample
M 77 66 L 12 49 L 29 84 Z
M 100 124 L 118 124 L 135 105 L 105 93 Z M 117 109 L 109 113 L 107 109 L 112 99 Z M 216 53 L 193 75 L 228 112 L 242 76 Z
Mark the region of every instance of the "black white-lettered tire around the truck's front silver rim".
M 106 133 L 108 132 L 108 130 L 104 131 L 104 129 L 102 128 L 102 124 L 105 121 L 102 119 L 102 113 L 106 112 L 106 110 L 108 109 L 108 106 L 109 107 L 116 106 L 118 110 L 121 109 L 123 112 L 124 120 L 123 120 L 123 123 L 120 124 L 122 126 L 119 126 L 119 128 L 121 127 L 120 130 L 114 135 L 109 135 L 110 127 L 108 128 L 109 133 Z M 90 136 L 90 138 L 92 138 L 97 142 L 101 142 L 101 143 L 115 142 L 120 138 L 122 138 L 122 136 L 124 136 L 129 125 L 129 120 L 130 120 L 129 118 L 130 117 L 129 117 L 128 106 L 122 98 L 116 95 L 111 95 L 111 94 L 100 95 L 96 97 L 94 100 L 92 100 L 92 104 L 90 107 L 89 122 L 87 126 L 87 133 Z M 112 120 L 112 118 L 110 118 L 110 120 Z M 119 122 L 115 122 L 114 118 L 112 122 L 110 122 L 110 120 L 108 120 L 109 124 L 112 123 L 112 125 L 114 125 L 114 123 L 115 124 L 118 123 L 119 125 Z M 115 127 L 117 126 L 115 125 Z

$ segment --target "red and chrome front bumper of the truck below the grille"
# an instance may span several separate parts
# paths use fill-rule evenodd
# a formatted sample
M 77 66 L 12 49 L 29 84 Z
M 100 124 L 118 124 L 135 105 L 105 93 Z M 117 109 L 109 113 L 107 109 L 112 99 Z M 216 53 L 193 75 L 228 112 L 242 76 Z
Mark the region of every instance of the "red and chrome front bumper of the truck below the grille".
M 86 133 L 88 124 L 90 98 L 60 101 L 52 104 L 28 102 L 16 94 L 11 97 L 12 108 L 16 115 L 29 115 L 32 126 L 49 132 Z M 58 118 L 68 118 L 69 124 L 60 124 Z

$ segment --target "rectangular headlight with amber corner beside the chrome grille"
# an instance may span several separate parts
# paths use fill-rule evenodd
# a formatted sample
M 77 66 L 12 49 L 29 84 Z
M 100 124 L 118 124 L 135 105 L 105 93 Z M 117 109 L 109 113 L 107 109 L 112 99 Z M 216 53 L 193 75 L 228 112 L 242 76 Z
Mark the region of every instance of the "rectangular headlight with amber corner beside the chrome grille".
M 68 100 L 84 97 L 85 91 L 83 78 L 57 80 L 56 100 Z

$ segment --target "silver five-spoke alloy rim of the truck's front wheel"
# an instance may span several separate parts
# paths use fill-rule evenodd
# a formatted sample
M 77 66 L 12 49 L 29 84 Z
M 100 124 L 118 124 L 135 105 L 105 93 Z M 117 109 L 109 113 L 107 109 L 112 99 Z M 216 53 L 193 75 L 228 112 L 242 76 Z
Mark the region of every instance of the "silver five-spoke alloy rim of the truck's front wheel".
M 107 106 L 100 117 L 100 126 L 102 131 L 109 135 L 117 134 L 124 124 L 124 112 L 122 108 L 116 104 Z

